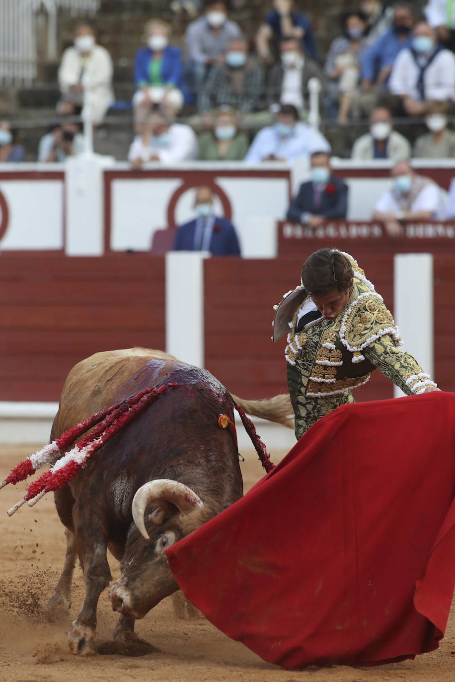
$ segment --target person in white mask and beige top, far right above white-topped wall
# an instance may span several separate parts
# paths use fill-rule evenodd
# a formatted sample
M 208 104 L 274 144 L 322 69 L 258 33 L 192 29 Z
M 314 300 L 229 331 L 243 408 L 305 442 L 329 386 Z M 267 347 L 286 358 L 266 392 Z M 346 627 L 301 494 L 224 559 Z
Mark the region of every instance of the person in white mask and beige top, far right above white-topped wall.
M 422 159 L 454 158 L 455 132 L 447 128 L 447 104 L 428 102 L 425 122 L 430 132 L 417 137 L 413 155 Z

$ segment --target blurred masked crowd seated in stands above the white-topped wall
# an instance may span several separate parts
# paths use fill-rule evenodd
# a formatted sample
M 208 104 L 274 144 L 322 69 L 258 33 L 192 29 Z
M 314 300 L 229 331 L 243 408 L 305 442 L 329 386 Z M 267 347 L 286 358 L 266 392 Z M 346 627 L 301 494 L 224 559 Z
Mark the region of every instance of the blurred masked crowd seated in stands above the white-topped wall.
M 151 17 L 145 25 L 130 102 L 134 168 L 149 161 L 290 161 L 329 153 L 325 136 L 308 123 L 312 78 L 321 83 L 321 116 L 336 122 L 340 134 L 350 123 L 369 121 L 351 158 L 454 156 L 455 2 L 428 0 L 419 14 L 412 2 L 359 0 L 340 12 L 339 35 L 326 55 L 297 0 L 274 0 L 249 38 L 229 18 L 231 6 L 174 0 L 174 12 L 192 17 L 184 50 L 166 21 Z M 58 82 L 57 117 L 37 150 L 42 162 L 83 150 L 80 121 L 89 119 L 100 134 L 107 130 L 103 121 L 115 106 L 113 61 L 91 26 L 77 27 Z M 394 130 L 409 117 L 426 126 L 412 143 Z M 3 121 L 0 162 L 24 159 L 17 131 Z

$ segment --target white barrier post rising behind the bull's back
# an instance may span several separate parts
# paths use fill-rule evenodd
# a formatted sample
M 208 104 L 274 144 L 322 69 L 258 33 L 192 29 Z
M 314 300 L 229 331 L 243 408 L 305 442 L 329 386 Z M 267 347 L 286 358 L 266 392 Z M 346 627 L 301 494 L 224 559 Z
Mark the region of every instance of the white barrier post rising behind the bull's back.
M 166 353 L 204 366 L 204 260 L 201 251 L 166 253 Z

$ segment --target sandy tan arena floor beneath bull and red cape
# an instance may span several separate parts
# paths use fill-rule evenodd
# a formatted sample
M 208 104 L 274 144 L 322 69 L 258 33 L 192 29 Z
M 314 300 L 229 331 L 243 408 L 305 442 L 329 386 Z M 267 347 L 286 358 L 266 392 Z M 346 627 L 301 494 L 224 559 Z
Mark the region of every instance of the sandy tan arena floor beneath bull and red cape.
M 41 447 L 38 445 L 35 449 Z M 27 447 L 0 448 L 0 481 L 12 466 L 35 451 Z M 273 454 L 272 460 L 279 457 Z M 242 465 L 246 490 L 262 475 L 255 455 Z M 438 651 L 379 668 L 311 668 L 286 671 L 265 663 L 238 642 L 233 642 L 205 619 L 180 620 L 170 599 L 154 608 L 136 632 L 156 651 L 133 657 L 115 655 L 109 649 L 117 615 L 111 610 L 107 591 L 98 606 L 98 655 L 77 657 L 65 649 L 70 625 L 50 625 L 42 608 L 53 591 L 64 554 L 63 526 L 50 496 L 29 509 L 23 507 L 11 519 L 6 510 L 23 496 L 25 484 L 0 492 L 0 681 L 16 682 L 111 682 L 111 681 L 235 681 L 235 682 L 378 682 L 407 680 L 455 681 L 455 609 Z M 112 559 L 112 557 L 111 557 Z M 113 577 L 119 574 L 112 559 Z M 83 602 L 80 569 L 76 569 L 72 593 L 72 617 Z M 104 646 L 103 646 L 104 642 Z

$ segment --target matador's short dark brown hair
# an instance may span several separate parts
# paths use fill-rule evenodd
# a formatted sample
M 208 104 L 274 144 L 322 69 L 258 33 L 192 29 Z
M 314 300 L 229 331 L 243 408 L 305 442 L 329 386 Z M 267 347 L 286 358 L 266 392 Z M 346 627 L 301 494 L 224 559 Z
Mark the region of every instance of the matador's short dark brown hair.
M 317 298 L 331 289 L 347 291 L 354 273 L 346 256 L 332 249 L 319 249 L 302 265 L 302 284 L 306 291 Z

